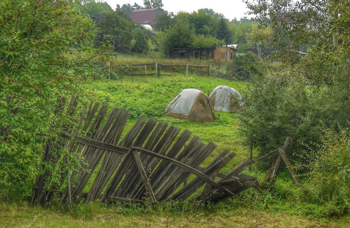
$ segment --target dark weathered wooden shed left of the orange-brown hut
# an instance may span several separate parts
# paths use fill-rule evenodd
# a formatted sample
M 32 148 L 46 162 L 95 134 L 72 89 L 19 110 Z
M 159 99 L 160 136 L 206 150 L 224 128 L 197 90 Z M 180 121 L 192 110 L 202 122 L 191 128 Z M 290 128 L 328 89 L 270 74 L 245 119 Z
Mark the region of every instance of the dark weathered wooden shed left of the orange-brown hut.
M 209 59 L 213 58 L 214 47 L 212 48 L 193 48 L 190 46 L 183 46 L 180 48 L 174 48 L 169 51 L 169 58 L 180 59 L 180 58 L 199 58 Z

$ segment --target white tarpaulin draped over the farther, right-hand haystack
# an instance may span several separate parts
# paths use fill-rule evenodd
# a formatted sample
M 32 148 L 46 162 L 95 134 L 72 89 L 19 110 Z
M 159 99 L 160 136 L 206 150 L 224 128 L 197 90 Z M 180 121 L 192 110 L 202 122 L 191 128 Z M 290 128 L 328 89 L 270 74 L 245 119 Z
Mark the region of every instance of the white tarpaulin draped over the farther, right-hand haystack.
M 229 112 L 230 106 L 231 106 L 231 95 L 234 95 L 237 100 L 239 106 L 242 106 L 244 104 L 244 101 L 242 100 L 242 96 L 240 93 L 235 90 L 234 88 L 231 88 L 229 86 L 218 86 L 216 87 L 209 95 L 209 100 L 211 96 L 215 93 L 215 105 L 214 110 L 216 111 L 224 111 Z

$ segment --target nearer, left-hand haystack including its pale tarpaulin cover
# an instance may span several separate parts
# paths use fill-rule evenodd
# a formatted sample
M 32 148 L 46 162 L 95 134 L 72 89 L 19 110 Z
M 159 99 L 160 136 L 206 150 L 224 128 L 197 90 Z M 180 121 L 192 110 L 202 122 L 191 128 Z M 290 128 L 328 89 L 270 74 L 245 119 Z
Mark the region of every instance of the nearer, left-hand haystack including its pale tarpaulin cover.
M 213 108 L 208 96 L 198 89 L 181 90 L 165 109 L 165 116 L 176 119 L 194 120 L 196 122 L 213 122 Z

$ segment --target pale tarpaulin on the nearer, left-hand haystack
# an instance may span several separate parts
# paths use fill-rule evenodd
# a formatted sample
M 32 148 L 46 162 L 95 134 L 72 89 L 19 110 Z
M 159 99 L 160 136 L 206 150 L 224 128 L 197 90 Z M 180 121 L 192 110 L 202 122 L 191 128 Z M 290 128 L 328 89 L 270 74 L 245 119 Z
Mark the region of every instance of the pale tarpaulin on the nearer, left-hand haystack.
M 187 115 L 190 113 L 191 107 L 195 102 L 197 96 L 202 91 L 198 89 L 185 89 L 181 90 L 180 94 L 177 95 L 165 109 L 168 112 L 170 109 L 171 113 L 177 113 L 182 115 Z

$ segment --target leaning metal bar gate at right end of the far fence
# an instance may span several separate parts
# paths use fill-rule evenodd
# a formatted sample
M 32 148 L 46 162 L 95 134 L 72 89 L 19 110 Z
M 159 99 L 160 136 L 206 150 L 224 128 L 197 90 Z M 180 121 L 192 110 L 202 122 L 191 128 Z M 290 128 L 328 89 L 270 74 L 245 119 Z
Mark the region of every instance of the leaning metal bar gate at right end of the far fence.
M 231 81 L 246 81 L 249 79 L 250 72 L 242 66 L 210 62 L 209 76 Z

